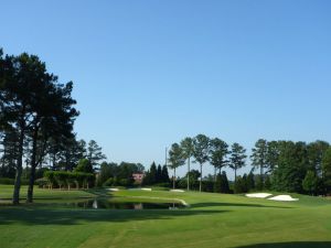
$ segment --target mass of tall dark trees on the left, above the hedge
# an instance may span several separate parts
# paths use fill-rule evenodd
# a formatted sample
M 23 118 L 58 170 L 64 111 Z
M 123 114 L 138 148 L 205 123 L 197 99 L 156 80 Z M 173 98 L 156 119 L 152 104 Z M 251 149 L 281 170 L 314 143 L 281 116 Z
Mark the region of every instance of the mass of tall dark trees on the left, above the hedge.
M 93 166 L 105 155 L 95 141 L 77 140 L 79 115 L 73 82 L 60 83 L 35 55 L 4 55 L 0 50 L 0 176 L 14 177 L 12 203 L 19 204 L 23 163 L 29 165 L 26 202 L 33 201 L 38 168 L 73 171 L 81 159 Z M 26 170 L 26 169 L 25 169 Z

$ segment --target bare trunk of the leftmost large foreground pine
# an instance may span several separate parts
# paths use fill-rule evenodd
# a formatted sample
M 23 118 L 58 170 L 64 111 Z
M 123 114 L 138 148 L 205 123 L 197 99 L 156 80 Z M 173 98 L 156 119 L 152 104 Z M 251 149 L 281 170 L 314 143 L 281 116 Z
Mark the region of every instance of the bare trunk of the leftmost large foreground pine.
M 12 204 L 14 204 L 14 205 L 18 205 L 20 203 L 22 162 L 23 162 L 23 142 L 24 142 L 24 134 L 25 134 L 24 114 L 25 114 L 25 108 L 23 108 L 23 110 L 22 110 L 22 116 L 21 116 L 21 120 L 20 120 L 18 165 L 17 165 L 17 173 L 15 173 L 14 191 L 13 191 L 13 196 L 12 196 Z

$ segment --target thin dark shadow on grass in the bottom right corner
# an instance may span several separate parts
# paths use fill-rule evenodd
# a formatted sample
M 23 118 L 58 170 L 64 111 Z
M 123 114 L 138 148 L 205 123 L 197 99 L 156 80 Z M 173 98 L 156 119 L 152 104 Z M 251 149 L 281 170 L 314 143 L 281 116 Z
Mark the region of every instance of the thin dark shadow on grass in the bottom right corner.
M 330 248 L 331 241 L 292 241 L 292 242 L 275 242 L 258 244 L 250 246 L 241 246 L 237 248 Z

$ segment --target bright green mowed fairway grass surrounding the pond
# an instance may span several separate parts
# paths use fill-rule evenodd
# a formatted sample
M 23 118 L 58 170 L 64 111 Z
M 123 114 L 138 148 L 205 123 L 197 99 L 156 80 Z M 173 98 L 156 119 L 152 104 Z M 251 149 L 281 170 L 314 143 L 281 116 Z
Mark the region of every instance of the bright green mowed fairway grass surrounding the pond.
M 11 197 L 11 186 L 0 186 L 0 200 Z M 35 190 L 35 197 L 52 201 L 105 194 L 109 193 Z M 62 208 L 55 204 L 0 205 L 0 247 L 331 247 L 330 200 L 293 195 L 300 201 L 282 203 L 166 191 L 119 191 L 111 195 L 118 201 L 183 200 L 191 207 L 111 211 Z

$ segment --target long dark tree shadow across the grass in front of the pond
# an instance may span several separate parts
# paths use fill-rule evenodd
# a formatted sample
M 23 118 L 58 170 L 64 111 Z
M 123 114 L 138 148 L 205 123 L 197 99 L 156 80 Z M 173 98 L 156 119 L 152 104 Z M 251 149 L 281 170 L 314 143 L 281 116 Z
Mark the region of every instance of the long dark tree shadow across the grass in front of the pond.
M 79 225 L 94 222 L 121 223 L 148 219 L 172 219 L 182 216 L 207 216 L 227 211 L 108 211 L 108 209 L 49 209 L 4 208 L 0 209 L 0 226 L 24 225 Z

